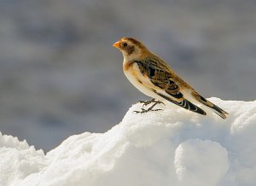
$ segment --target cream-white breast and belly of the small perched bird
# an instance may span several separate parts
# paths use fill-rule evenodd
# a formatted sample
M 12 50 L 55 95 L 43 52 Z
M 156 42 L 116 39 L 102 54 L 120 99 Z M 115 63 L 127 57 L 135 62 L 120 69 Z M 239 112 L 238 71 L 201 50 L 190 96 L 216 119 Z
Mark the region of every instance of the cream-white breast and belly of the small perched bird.
M 124 71 L 124 73 L 126 78 L 129 79 L 131 84 L 133 84 L 137 90 L 140 90 L 147 96 L 161 100 L 161 97 L 154 93 L 154 84 L 150 82 L 149 78 L 143 76 L 136 63 L 132 64 L 128 70 Z

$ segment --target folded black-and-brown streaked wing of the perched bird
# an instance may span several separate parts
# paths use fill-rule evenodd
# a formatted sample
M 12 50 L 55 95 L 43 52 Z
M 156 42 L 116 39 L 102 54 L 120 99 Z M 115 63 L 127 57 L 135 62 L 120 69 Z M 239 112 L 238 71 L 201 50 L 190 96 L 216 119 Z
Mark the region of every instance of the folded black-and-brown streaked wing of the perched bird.
M 180 87 L 173 81 L 172 73 L 169 72 L 169 68 L 165 63 L 154 61 L 152 58 L 136 62 L 140 73 L 146 75 L 154 86 L 160 88 L 161 91 L 154 90 L 157 95 L 195 113 L 207 114 L 201 108 L 198 108 L 195 104 L 184 98 L 183 93 L 180 92 Z

